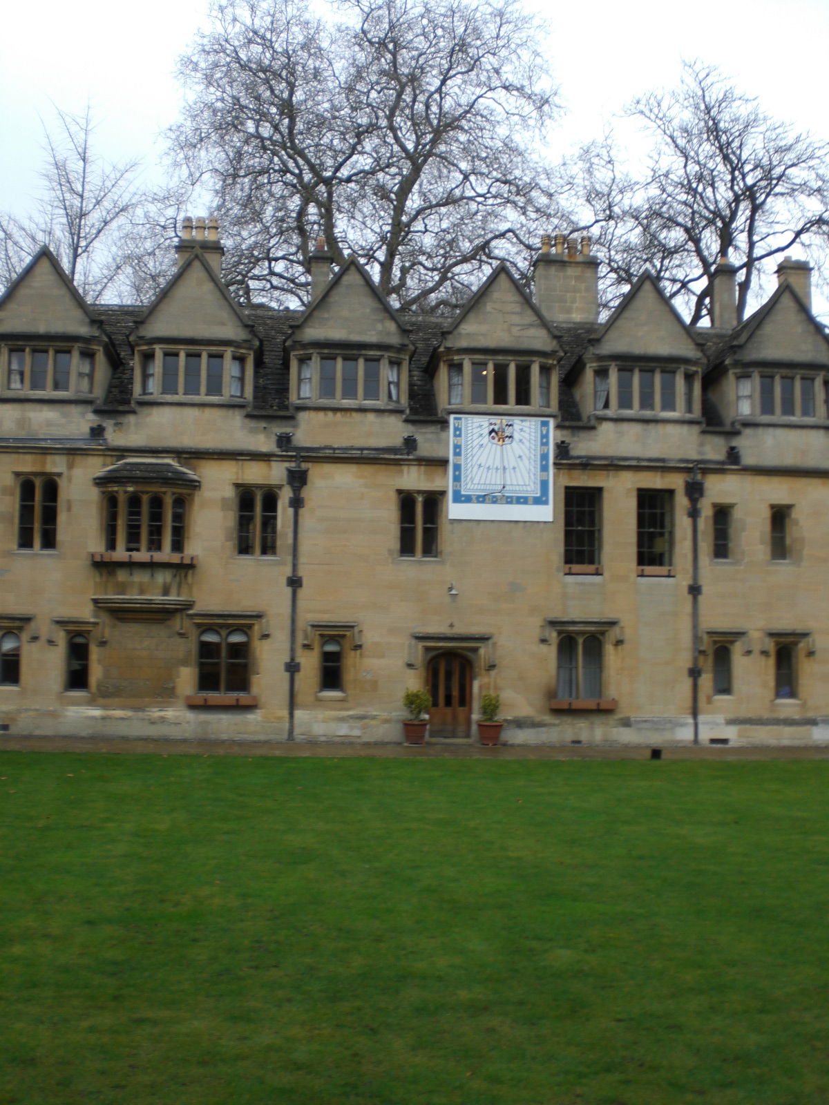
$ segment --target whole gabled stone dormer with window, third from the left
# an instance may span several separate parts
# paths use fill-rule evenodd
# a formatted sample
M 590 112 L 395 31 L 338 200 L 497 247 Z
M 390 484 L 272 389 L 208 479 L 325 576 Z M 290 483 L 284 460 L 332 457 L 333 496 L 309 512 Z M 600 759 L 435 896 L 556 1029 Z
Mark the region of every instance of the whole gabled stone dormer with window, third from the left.
M 291 398 L 301 406 L 399 409 L 407 401 L 411 344 L 393 307 L 355 257 L 328 283 L 315 281 L 290 351 Z

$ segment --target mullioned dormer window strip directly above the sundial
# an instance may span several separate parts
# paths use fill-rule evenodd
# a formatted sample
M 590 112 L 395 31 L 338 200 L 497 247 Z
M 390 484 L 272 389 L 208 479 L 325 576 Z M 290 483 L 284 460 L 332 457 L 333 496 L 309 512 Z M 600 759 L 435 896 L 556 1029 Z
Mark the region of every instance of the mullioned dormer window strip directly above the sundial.
M 546 407 L 552 399 L 552 366 L 533 360 L 450 361 L 450 407 Z

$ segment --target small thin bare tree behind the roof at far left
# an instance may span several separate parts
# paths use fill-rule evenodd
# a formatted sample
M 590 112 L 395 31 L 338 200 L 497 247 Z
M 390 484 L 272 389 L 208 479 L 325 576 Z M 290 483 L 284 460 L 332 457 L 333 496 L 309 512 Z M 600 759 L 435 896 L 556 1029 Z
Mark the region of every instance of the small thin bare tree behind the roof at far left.
M 56 109 L 44 125 L 41 192 L 28 218 L 0 214 L 0 278 L 7 283 L 41 245 L 49 245 L 81 293 L 99 299 L 112 290 L 127 257 L 119 238 L 136 210 L 137 161 L 106 161 L 94 150 L 95 124 Z

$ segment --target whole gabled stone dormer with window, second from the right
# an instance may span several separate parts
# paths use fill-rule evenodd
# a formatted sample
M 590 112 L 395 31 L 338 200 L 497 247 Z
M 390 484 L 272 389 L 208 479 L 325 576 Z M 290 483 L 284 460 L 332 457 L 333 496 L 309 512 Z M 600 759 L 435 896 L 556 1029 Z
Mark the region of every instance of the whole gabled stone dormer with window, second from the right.
M 650 273 L 605 323 L 571 385 L 602 417 L 699 417 L 702 351 Z

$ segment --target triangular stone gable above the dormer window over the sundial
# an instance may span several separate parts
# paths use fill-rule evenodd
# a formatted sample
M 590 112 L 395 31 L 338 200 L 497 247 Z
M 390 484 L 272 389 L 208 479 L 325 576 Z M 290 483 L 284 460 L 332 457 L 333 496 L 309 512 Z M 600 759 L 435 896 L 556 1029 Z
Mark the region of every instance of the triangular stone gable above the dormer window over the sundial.
M 558 351 L 535 304 L 503 264 L 469 301 L 445 335 L 444 345 L 450 349 Z

